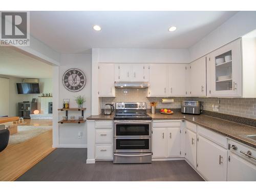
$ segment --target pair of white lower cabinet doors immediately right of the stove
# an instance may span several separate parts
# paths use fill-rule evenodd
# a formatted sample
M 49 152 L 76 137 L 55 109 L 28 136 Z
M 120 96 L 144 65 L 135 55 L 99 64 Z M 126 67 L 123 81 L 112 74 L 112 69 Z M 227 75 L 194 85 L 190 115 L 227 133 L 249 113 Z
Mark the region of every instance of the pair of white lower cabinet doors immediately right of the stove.
M 153 128 L 153 158 L 180 157 L 180 127 Z

